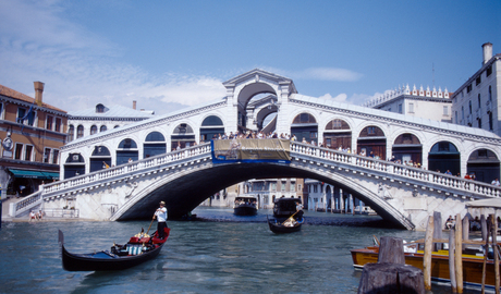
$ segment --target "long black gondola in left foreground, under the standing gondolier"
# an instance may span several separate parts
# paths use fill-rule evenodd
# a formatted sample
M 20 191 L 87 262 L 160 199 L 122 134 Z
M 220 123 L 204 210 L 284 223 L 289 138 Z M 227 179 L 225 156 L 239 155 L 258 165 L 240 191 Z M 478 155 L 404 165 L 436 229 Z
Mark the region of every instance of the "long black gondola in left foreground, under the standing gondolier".
M 123 270 L 158 256 L 170 234 L 164 229 L 164 237 L 159 238 L 157 232 L 151 236 L 139 234 L 130 238 L 124 245 L 113 244 L 111 252 L 101 250 L 89 254 L 72 254 L 64 247 L 64 235 L 59 230 L 59 247 L 63 269 L 68 271 L 106 271 Z

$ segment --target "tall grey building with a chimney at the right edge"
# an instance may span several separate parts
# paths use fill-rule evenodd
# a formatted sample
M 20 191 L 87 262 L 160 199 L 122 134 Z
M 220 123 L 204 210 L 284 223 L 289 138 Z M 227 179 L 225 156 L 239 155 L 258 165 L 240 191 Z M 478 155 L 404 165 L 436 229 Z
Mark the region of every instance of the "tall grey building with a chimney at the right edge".
M 453 123 L 501 135 L 501 54 L 492 56 L 492 44 L 482 45 L 482 63 L 452 95 Z

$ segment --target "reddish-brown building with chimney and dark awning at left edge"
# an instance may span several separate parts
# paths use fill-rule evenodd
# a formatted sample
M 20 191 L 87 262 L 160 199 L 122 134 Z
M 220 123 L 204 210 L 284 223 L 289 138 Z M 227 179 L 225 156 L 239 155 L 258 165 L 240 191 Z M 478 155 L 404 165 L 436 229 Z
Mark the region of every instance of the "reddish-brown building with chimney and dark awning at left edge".
M 0 85 L 2 198 L 29 195 L 40 184 L 59 180 L 68 113 L 45 103 L 44 83 L 34 84 L 35 98 Z

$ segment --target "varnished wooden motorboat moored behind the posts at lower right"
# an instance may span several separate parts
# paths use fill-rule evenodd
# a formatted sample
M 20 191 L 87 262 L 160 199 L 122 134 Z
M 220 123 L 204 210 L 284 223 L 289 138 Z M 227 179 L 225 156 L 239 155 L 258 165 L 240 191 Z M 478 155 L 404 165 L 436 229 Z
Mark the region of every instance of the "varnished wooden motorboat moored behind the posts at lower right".
M 448 243 L 448 240 L 433 240 L 437 243 Z M 418 240 L 404 244 L 405 264 L 423 270 L 425 240 Z M 481 286 L 484 265 L 484 241 L 463 241 L 463 281 L 468 287 Z M 363 268 L 369 262 L 378 262 L 379 246 L 369 246 L 353 249 L 352 259 L 355 268 Z M 494 289 L 494 262 L 492 253 L 486 262 L 486 287 Z M 440 249 L 431 253 L 431 280 L 435 282 L 450 283 L 449 275 L 449 250 Z

